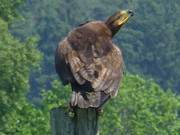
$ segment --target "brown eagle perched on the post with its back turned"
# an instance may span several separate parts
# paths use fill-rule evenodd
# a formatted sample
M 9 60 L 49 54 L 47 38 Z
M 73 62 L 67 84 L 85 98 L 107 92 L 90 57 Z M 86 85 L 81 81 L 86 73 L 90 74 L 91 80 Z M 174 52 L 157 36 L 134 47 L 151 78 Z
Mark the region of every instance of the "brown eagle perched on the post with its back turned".
M 55 69 L 62 84 L 71 85 L 71 107 L 100 108 L 117 95 L 123 57 L 112 38 L 131 16 L 131 10 L 120 10 L 106 21 L 88 21 L 58 44 Z

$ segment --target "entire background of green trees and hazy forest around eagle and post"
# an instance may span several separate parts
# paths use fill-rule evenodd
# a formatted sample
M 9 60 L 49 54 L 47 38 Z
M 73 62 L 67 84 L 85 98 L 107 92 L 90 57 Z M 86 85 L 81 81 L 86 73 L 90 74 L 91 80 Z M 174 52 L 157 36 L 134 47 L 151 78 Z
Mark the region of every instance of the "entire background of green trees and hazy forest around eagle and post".
M 180 135 L 179 0 L 0 0 L 0 135 L 49 135 L 68 104 L 54 69 L 58 42 L 117 10 L 135 15 L 114 37 L 126 74 L 100 118 L 102 135 Z

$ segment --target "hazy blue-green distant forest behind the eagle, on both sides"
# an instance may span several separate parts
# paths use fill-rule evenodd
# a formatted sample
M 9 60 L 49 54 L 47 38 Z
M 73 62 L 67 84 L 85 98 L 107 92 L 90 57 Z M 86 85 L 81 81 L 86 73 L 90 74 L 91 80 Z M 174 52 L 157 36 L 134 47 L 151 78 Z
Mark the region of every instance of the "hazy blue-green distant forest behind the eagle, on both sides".
M 105 20 L 119 9 L 132 9 L 135 16 L 115 37 L 129 72 L 140 73 L 178 92 L 180 84 L 179 0 L 42 0 L 21 8 L 24 21 L 14 23 L 13 33 L 24 39 L 38 35 L 45 54 L 42 74 L 33 75 L 32 91 L 49 88 L 54 80 L 54 51 L 58 42 L 78 24 Z M 107 10 L 108 9 L 108 10 Z M 37 79 L 38 78 L 38 79 Z

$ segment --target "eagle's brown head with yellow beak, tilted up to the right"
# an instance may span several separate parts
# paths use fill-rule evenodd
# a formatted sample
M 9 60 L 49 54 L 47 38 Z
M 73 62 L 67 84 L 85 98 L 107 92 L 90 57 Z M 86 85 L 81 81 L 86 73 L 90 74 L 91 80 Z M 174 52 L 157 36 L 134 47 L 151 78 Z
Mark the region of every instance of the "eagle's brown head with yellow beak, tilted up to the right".
M 114 13 L 112 16 L 110 16 L 105 24 L 108 26 L 108 28 L 112 32 L 112 36 L 114 36 L 118 30 L 129 20 L 130 17 L 132 17 L 134 13 L 131 10 L 121 10 L 116 13 Z

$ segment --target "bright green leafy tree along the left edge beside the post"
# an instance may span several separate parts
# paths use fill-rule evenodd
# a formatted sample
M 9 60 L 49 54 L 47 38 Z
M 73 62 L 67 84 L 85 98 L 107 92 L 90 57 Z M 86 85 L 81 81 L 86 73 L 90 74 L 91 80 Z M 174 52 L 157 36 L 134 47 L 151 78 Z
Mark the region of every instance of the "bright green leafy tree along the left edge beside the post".
M 0 19 L 0 134 L 50 134 L 48 111 L 35 108 L 26 99 L 29 75 L 41 59 L 36 39 L 22 43 L 8 32 Z M 34 128 L 35 127 L 35 128 Z

